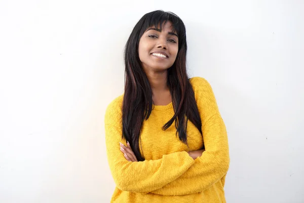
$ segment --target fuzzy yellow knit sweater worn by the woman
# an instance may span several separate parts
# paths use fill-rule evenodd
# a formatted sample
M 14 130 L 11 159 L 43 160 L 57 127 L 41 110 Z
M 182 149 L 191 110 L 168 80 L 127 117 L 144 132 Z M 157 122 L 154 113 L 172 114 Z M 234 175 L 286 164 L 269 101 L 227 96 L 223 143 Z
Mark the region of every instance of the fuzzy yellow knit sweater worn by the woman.
M 145 160 L 126 160 L 120 151 L 123 95 L 114 99 L 105 113 L 105 141 L 111 174 L 116 183 L 111 202 L 226 202 L 225 176 L 230 157 L 227 132 L 210 84 L 201 77 L 190 79 L 202 120 L 203 138 L 188 121 L 187 146 L 175 136 L 174 123 L 162 130 L 174 115 L 173 105 L 153 106 L 141 128 L 140 152 Z M 195 160 L 186 151 L 199 150 Z

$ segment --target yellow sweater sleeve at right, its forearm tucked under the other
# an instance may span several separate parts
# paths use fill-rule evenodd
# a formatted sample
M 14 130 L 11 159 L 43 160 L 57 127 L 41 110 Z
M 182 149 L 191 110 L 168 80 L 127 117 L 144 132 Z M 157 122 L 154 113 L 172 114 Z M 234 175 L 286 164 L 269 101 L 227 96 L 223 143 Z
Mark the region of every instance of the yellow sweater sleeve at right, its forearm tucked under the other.
M 206 151 L 201 157 L 195 159 L 195 164 L 189 167 L 183 175 L 164 187 L 151 191 L 152 193 L 192 194 L 206 190 L 220 179 L 224 181 L 230 165 L 226 127 L 218 112 L 211 86 L 207 81 L 199 80 L 203 84 L 195 87 L 195 92 L 203 124 L 202 132 Z M 201 88 L 205 90 L 201 90 Z

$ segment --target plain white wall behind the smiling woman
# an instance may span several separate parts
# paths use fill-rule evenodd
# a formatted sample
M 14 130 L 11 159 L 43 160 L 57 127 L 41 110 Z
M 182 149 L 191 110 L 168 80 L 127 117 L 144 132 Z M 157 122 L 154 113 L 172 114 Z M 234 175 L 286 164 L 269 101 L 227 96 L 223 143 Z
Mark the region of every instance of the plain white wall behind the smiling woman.
M 180 16 L 229 132 L 227 202 L 304 202 L 304 2 L 0 3 L 0 202 L 109 202 L 103 118 L 147 12 Z

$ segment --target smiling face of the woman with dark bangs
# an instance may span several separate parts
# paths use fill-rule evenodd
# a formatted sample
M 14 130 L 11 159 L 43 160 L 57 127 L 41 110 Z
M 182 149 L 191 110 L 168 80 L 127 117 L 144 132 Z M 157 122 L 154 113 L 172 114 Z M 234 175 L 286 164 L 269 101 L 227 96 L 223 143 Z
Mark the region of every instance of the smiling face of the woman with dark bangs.
M 149 27 L 139 40 L 138 54 L 145 71 L 164 71 L 171 67 L 178 51 L 178 37 L 168 21 L 162 31 Z

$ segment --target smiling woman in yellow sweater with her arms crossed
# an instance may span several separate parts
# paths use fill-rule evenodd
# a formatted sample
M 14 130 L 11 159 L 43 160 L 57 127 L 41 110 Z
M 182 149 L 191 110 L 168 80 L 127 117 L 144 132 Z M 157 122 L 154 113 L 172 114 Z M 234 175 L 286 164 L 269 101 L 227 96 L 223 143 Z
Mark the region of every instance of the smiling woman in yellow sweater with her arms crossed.
M 225 125 L 210 84 L 188 79 L 186 51 L 171 12 L 147 13 L 131 32 L 125 92 L 105 114 L 111 202 L 225 202 Z

